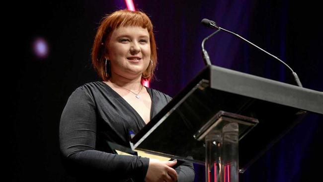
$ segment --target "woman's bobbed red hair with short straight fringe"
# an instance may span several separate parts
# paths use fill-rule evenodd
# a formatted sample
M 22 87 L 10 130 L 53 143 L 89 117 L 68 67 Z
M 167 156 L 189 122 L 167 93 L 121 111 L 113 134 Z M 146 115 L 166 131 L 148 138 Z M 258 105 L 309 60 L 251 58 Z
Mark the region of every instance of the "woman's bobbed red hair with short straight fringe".
M 142 11 L 118 10 L 103 17 L 97 29 L 95 39 L 92 46 L 91 60 L 94 70 L 98 76 L 107 81 L 111 75 L 105 72 L 105 56 L 107 54 L 107 45 L 109 37 L 113 30 L 123 26 L 140 26 L 147 28 L 149 32 L 151 60 L 148 68 L 142 75 L 143 80 L 152 80 L 154 78 L 154 71 L 157 66 L 157 47 L 155 36 L 153 32 L 153 24 L 147 14 Z

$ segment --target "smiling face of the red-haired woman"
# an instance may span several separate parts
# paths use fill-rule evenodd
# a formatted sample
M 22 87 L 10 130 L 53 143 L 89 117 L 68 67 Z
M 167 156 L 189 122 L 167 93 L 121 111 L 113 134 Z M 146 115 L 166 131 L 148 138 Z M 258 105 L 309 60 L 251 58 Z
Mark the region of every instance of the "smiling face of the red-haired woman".
M 115 29 L 108 43 L 107 58 L 114 74 L 134 79 L 141 78 L 150 62 L 150 41 L 147 28 L 137 26 Z

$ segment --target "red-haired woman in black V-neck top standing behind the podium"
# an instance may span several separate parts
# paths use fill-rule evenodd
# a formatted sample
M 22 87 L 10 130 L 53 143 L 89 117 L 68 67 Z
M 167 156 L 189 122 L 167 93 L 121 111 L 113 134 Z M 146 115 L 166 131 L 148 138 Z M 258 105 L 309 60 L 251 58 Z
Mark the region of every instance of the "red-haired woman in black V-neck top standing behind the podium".
M 142 86 L 157 65 L 153 25 L 140 11 L 118 10 L 103 18 L 92 47 L 102 82 L 70 96 L 61 117 L 60 148 L 67 169 L 80 181 L 192 182 L 192 164 L 113 154 L 107 142 L 129 146 L 170 97 Z

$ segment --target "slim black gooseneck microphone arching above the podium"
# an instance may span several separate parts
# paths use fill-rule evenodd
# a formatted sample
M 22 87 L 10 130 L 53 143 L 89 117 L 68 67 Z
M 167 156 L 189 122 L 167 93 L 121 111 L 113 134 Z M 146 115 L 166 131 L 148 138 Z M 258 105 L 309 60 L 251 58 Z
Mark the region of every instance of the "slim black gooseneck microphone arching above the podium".
M 274 55 L 272 55 L 272 54 L 268 53 L 267 51 L 265 51 L 265 50 L 263 50 L 263 49 L 261 49 L 260 47 L 256 46 L 256 45 L 255 45 L 255 44 L 253 44 L 252 42 L 250 42 L 250 41 L 246 40 L 245 38 L 243 38 L 242 36 L 240 36 L 240 35 L 238 35 L 238 34 L 236 34 L 236 33 L 234 33 L 234 32 L 231 32 L 231 31 L 229 31 L 229 30 L 226 30 L 226 29 L 224 29 L 224 28 L 221 28 L 220 26 L 218 26 L 218 25 L 217 25 L 214 21 L 212 21 L 212 20 L 209 20 L 209 19 L 204 18 L 204 19 L 202 19 L 201 23 L 202 23 L 204 26 L 206 26 L 206 27 L 209 27 L 209 28 L 216 28 L 216 29 L 218 29 L 218 30 L 217 30 L 217 31 L 215 31 L 213 34 L 211 34 L 209 37 L 211 37 L 211 36 L 212 36 L 212 35 L 214 35 L 215 33 L 219 32 L 220 30 L 223 30 L 223 31 L 225 31 L 225 32 L 228 32 L 228 33 L 231 33 L 231 34 L 233 34 L 233 35 L 236 35 L 237 37 L 241 38 L 242 40 L 246 41 L 247 43 L 249 43 L 249 44 L 253 45 L 254 47 L 256 47 L 256 48 L 260 49 L 261 51 L 265 52 L 265 53 L 266 53 L 266 54 L 268 54 L 269 56 L 271 56 L 271 57 L 273 57 L 273 58 L 277 59 L 278 61 L 280 61 L 281 63 L 283 63 L 285 66 L 287 66 L 287 68 L 289 68 L 289 69 L 292 71 L 293 77 L 294 77 L 294 79 L 295 79 L 295 81 L 296 81 L 297 85 L 298 85 L 299 87 L 303 87 L 303 86 L 302 86 L 302 83 L 301 83 L 301 81 L 300 81 L 300 79 L 298 78 L 297 74 L 292 70 L 292 68 L 291 68 L 291 67 L 289 67 L 289 66 L 288 66 L 285 62 L 283 62 L 282 60 L 278 59 L 276 56 L 274 56 Z M 203 40 L 203 41 L 204 41 L 204 40 Z M 205 50 L 204 50 L 204 51 L 203 51 L 203 50 L 204 50 L 204 42 L 202 42 L 202 52 L 204 52 L 204 51 L 205 51 Z M 205 52 L 206 52 L 206 51 L 205 51 Z

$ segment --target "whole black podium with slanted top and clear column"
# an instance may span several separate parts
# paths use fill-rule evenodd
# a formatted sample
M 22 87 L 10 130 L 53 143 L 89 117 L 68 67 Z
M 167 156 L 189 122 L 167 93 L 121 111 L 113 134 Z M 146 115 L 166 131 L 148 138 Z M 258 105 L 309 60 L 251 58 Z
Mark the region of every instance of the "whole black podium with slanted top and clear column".
M 220 181 L 228 172 L 233 175 L 223 161 L 232 153 L 230 162 L 236 164 L 230 167 L 237 179 L 230 181 L 234 182 L 238 172 L 243 173 L 309 112 L 323 114 L 323 92 L 211 65 L 137 133 L 130 145 L 132 150 L 206 165 L 210 182 L 210 178 L 219 181 L 216 175 L 222 176 Z M 209 148 L 219 142 L 225 146 L 228 131 L 232 137 L 227 140 L 229 149 Z M 219 133 L 221 137 L 216 139 Z M 217 159 L 210 159 L 212 155 Z

